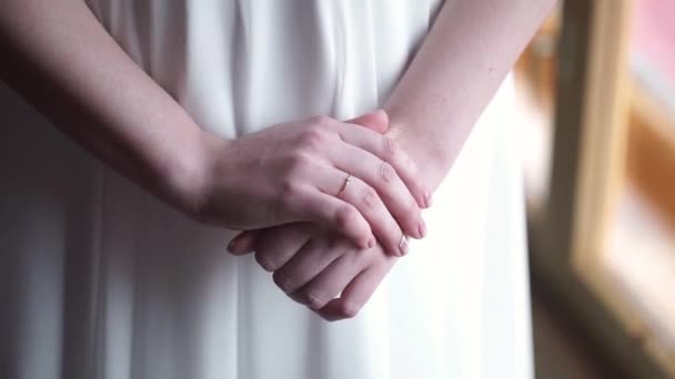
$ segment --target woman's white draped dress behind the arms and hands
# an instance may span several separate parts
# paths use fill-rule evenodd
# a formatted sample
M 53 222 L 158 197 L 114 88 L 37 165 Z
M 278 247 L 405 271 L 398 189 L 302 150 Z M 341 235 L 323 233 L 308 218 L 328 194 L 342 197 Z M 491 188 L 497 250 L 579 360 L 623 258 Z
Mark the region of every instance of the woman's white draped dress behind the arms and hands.
M 123 49 L 223 137 L 377 107 L 440 6 L 89 2 Z M 412 243 L 356 318 L 332 324 L 286 298 L 252 257 L 230 256 L 232 232 L 154 199 L 1 88 L 0 377 L 532 377 L 510 88 L 436 192 L 429 237 Z

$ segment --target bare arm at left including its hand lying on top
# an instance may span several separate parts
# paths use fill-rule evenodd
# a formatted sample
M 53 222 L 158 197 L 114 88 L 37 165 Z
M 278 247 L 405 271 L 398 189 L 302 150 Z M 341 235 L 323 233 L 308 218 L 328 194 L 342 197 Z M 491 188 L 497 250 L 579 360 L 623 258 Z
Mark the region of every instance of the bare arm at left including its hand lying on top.
M 236 229 L 316 222 L 362 247 L 377 237 L 393 254 L 404 233 L 421 237 L 427 191 L 410 160 L 384 148 L 389 137 L 330 117 L 233 141 L 204 132 L 83 0 L 2 0 L 0 53 L 0 79 L 61 131 L 197 219 Z M 347 173 L 354 183 L 341 192 Z

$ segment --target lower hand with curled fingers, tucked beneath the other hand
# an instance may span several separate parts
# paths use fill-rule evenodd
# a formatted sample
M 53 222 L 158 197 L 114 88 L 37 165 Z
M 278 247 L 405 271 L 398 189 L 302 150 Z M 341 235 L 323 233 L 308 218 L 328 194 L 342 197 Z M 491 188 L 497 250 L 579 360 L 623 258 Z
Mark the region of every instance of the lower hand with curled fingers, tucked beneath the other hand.
M 234 255 L 254 250 L 276 286 L 326 320 L 356 316 L 397 259 L 380 244 L 359 249 L 312 223 L 244 232 L 229 249 Z

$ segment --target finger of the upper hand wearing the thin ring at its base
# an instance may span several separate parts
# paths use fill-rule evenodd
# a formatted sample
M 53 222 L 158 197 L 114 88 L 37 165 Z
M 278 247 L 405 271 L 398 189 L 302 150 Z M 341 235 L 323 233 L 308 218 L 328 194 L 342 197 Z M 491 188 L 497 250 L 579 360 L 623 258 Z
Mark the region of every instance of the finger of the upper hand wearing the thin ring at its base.
M 338 198 L 351 204 L 359 211 L 387 253 L 396 256 L 403 256 L 407 253 L 407 239 L 404 238 L 404 232 L 380 198 L 376 190 L 361 178 L 356 176 L 350 177 L 347 174 L 335 168 L 329 167 L 313 175 L 320 191 L 326 194 L 336 194 Z M 336 182 L 340 175 L 344 176 L 345 180 Z M 349 183 L 345 182 L 347 177 Z M 419 212 L 419 209 L 416 211 Z

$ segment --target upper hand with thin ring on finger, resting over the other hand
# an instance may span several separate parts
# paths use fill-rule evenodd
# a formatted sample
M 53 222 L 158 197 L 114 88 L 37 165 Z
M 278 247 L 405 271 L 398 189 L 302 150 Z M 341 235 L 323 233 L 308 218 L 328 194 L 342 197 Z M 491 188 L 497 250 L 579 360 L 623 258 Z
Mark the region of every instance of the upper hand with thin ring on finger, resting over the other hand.
M 389 124 L 383 111 L 362 117 Z M 424 235 L 429 190 L 396 143 L 373 130 L 318 116 L 233 141 L 206 134 L 204 145 L 193 212 L 202 222 L 233 229 L 316 222 L 360 247 L 376 237 L 393 255 L 405 254 L 404 235 Z

